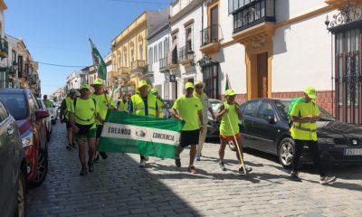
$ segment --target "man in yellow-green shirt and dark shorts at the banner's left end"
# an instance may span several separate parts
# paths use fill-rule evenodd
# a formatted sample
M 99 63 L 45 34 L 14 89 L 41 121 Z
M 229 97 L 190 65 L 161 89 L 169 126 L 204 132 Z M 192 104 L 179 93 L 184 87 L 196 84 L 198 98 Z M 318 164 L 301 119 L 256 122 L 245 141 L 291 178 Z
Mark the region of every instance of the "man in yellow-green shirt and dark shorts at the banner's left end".
M 89 172 L 94 170 L 93 157 L 96 153 L 96 119 L 100 123 L 104 123 L 104 119 L 100 117 L 100 109 L 96 100 L 90 98 L 90 85 L 82 84 L 80 88 L 81 97 L 76 98 L 68 109 L 69 121 L 77 144 L 79 147 L 79 158 L 81 161 L 81 174 L 87 175 L 87 160 L 85 156 L 85 144 L 88 143 L 88 166 Z

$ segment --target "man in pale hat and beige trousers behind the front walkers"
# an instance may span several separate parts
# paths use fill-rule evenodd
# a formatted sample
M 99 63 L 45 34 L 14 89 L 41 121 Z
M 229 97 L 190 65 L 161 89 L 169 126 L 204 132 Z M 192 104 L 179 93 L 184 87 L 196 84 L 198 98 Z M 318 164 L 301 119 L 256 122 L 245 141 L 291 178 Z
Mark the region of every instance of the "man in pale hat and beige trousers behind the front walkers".
M 205 87 L 205 84 L 203 81 L 196 81 L 195 82 L 195 92 L 194 92 L 194 96 L 197 97 L 198 99 L 200 99 L 201 103 L 203 104 L 203 122 L 200 123 L 200 137 L 198 138 L 198 144 L 197 144 L 197 151 L 196 151 L 196 161 L 200 161 L 201 160 L 201 156 L 202 153 L 201 151 L 203 150 L 203 146 L 205 143 L 205 138 L 206 138 L 206 133 L 207 133 L 207 122 L 208 122 L 208 115 L 207 115 L 207 111 L 210 112 L 211 116 L 214 117 L 214 111 L 212 109 L 212 105 L 209 101 L 209 99 L 207 98 L 207 95 L 205 94 L 205 92 L 203 91 Z

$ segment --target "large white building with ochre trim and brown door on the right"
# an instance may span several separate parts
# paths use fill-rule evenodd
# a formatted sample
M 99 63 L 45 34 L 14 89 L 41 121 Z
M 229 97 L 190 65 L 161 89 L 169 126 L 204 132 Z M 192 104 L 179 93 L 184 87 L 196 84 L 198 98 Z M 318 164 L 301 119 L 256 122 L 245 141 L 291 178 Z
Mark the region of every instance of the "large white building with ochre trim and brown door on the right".
M 362 124 L 362 13 L 347 6 L 348 0 L 206 0 L 201 47 L 196 47 L 208 56 L 199 61 L 212 89 L 206 92 L 223 98 L 226 74 L 239 102 L 293 98 L 313 86 L 322 108 Z M 348 11 L 348 19 L 334 20 L 335 14 L 343 17 L 341 10 Z

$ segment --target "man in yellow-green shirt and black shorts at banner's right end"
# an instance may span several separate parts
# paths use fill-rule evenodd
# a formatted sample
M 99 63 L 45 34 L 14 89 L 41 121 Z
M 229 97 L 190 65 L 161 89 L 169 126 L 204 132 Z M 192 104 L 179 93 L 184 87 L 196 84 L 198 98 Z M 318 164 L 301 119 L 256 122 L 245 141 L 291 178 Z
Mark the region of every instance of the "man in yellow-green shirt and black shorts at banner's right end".
M 181 166 L 180 154 L 186 146 L 190 148 L 190 161 L 188 165 L 188 172 L 197 173 L 194 166 L 196 156 L 196 146 L 200 136 L 200 125 L 203 123 L 203 104 L 200 99 L 194 96 L 194 84 L 187 82 L 185 85 L 186 94 L 177 98 L 174 106 L 172 107 L 171 114 L 180 120 L 185 120 L 185 126 L 181 130 L 180 145 L 177 146 L 175 164 L 177 167 Z

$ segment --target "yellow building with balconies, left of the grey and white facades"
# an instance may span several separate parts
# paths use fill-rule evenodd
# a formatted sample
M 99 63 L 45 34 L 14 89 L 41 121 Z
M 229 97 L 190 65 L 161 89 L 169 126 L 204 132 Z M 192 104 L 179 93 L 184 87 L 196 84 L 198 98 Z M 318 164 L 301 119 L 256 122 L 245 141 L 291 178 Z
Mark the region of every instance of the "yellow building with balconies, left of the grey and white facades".
M 152 32 L 167 16 L 167 10 L 145 11 L 111 42 L 113 86 L 120 85 L 121 92 L 134 93 L 139 80 L 153 80 L 148 73 L 148 33 Z

